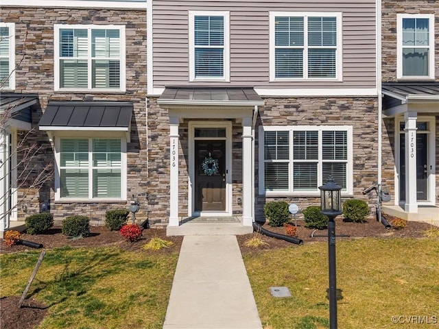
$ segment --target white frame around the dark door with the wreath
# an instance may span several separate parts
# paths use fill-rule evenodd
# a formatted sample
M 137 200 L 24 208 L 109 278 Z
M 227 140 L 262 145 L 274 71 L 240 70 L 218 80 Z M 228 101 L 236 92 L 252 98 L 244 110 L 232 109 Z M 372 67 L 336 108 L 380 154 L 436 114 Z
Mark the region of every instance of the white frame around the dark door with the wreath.
M 226 138 L 197 138 L 221 139 L 226 141 L 226 210 L 195 212 L 195 128 L 225 128 Z M 191 216 L 232 216 L 232 122 L 231 121 L 189 121 L 188 123 L 188 202 L 187 215 Z

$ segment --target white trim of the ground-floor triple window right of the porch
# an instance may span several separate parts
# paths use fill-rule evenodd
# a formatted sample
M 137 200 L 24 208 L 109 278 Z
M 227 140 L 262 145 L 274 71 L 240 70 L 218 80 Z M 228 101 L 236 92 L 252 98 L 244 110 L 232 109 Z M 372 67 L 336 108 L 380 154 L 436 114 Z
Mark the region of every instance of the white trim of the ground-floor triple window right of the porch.
M 346 191 L 342 191 L 342 195 L 353 194 L 353 126 L 352 125 L 274 125 L 274 126 L 259 126 L 259 195 L 267 195 L 270 197 L 276 196 L 318 196 L 320 191 L 293 191 L 293 180 L 291 179 L 294 164 L 293 160 L 293 133 L 298 131 L 313 130 L 319 132 L 319 149 L 318 149 L 318 186 L 322 186 L 322 148 L 320 144 L 320 134 L 325 131 L 344 131 L 347 132 L 347 159 L 346 161 Z M 288 169 L 288 184 L 289 191 L 267 191 L 265 190 L 265 161 L 264 161 L 264 133 L 272 131 L 287 131 L 289 132 L 289 169 Z

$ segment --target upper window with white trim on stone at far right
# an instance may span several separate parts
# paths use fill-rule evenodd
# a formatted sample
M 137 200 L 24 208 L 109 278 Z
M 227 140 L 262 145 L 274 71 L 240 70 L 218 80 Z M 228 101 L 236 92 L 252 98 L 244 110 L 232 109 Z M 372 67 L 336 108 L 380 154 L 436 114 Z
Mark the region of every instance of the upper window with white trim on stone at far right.
M 397 15 L 397 78 L 434 79 L 434 15 Z

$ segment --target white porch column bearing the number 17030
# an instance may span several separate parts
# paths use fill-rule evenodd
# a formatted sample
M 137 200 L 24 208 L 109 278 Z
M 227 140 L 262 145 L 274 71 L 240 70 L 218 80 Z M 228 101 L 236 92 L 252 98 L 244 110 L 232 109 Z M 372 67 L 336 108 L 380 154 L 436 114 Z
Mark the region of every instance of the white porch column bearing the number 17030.
M 407 212 L 418 212 L 416 197 L 416 112 L 405 112 L 405 206 Z

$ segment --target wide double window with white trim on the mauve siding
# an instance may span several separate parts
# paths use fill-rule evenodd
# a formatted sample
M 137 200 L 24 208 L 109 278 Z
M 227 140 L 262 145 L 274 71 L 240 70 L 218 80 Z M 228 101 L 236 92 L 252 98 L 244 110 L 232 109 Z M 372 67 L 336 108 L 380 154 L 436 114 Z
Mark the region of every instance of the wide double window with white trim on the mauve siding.
M 270 80 L 341 80 L 342 14 L 270 12 Z

